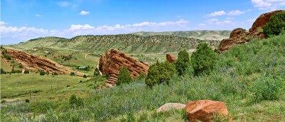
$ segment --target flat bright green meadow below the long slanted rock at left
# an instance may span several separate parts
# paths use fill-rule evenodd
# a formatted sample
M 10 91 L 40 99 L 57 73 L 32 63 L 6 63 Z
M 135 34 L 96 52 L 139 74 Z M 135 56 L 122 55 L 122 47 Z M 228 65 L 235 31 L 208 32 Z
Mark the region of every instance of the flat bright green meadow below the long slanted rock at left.
M 1 98 L 14 98 L 30 93 L 53 91 L 78 84 L 82 77 L 12 73 L 1 75 Z

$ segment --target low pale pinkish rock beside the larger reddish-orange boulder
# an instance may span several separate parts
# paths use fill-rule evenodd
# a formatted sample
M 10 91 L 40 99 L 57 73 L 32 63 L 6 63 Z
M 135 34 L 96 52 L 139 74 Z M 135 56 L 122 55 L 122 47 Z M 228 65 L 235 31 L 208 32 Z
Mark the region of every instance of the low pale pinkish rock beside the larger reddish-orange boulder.
M 170 111 L 171 109 L 184 109 L 185 104 L 182 103 L 165 103 L 163 106 L 160 106 L 160 108 L 157 108 L 157 113 L 159 112 L 165 112 Z

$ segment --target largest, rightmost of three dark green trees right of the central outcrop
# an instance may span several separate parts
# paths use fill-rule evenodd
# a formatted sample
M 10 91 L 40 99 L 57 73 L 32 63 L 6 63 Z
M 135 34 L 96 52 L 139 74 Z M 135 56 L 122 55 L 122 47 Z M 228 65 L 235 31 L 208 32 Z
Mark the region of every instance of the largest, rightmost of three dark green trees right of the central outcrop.
M 200 73 L 208 74 L 214 68 L 216 60 L 216 54 L 207 44 L 199 44 L 197 51 L 191 56 L 195 75 L 197 76 Z

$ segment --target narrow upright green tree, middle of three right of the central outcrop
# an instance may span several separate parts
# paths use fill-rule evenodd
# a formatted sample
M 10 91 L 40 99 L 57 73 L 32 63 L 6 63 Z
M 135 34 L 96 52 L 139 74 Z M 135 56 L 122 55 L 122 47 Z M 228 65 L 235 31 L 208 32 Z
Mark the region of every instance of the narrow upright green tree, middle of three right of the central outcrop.
M 182 76 L 185 73 L 185 69 L 190 66 L 190 56 L 188 52 L 184 49 L 179 52 L 178 59 L 175 61 L 175 68 L 178 75 Z

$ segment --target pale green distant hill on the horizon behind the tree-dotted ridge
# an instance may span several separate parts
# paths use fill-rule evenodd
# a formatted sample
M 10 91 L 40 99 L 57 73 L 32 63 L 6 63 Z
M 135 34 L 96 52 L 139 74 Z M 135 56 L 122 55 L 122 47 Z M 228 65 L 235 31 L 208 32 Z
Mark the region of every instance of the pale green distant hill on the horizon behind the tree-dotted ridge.
M 229 38 L 231 31 L 212 31 L 212 30 L 201 30 L 201 31 L 163 31 L 163 32 L 148 32 L 140 31 L 131 34 L 139 36 L 153 36 L 153 35 L 169 35 L 169 36 L 180 36 L 180 37 L 192 37 L 196 39 L 205 40 L 222 40 Z

